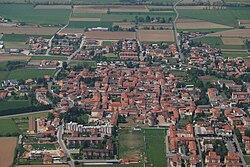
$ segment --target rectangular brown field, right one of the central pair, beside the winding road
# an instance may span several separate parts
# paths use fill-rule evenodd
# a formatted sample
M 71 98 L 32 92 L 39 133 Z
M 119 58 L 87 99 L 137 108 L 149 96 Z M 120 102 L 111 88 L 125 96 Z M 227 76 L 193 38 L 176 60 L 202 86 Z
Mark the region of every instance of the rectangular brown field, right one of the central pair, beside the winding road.
M 144 42 L 174 42 L 173 30 L 139 30 L 139 38 Z

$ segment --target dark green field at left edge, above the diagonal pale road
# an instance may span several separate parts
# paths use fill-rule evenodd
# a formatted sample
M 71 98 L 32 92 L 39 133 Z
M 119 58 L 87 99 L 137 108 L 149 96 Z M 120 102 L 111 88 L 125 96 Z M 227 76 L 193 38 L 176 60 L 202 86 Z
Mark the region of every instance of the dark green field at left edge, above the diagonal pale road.
M 0 101 L 0 112 L 2 110 L 16 109 L 30 106 L 29 100 L 8 100 Z

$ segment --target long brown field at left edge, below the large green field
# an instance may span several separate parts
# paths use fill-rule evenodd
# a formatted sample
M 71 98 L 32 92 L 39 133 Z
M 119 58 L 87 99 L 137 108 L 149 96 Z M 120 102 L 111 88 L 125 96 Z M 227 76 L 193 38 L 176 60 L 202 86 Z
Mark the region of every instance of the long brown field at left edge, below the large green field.
M 1 34 L 53 35 L 58 30 L 55 27 L 0 27 Z

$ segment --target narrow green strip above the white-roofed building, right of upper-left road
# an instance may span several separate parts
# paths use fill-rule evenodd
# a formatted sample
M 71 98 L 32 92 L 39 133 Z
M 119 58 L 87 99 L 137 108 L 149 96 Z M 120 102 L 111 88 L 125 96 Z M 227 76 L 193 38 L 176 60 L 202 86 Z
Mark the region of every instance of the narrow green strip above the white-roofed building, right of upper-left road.
M 68 28 L 93 28 L 93 27 L 108 27 L 113 25 L 109 21 L 71 21 Z

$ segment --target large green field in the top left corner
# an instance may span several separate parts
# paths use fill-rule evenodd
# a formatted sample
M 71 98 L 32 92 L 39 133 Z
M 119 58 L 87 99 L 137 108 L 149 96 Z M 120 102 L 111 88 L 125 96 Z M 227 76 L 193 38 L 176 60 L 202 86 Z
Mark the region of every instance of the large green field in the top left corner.
M 70 10 L 34 9 L 33 5 L 1 4 L 0 16 L 29 24 L 67 24 Z

